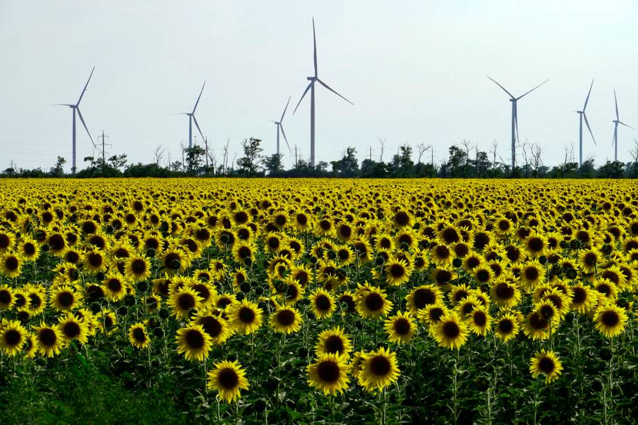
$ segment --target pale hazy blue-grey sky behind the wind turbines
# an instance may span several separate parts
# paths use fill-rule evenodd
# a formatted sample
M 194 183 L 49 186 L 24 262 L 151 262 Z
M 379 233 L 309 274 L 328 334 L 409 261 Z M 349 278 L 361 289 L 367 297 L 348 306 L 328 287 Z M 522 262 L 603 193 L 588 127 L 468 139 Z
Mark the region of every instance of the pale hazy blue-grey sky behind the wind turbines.
M 188 118 L 196 117 L 221 162 L 223 146 L 262 140 L 275 153 L 284 130 L 298 155 L 310 154 L 309 96 L 292 114 L 313 73 L 312 18 L 319 77 L 350 99 L 316 89 L 316 160 L 354 146 L 361 161 L 383 160 L 401 144 L 433 146 L 434 162 L 464 139 L 510 161 L 511 104 L 491 76 L 519 96 L 521 142 L 542 146 L 553 166 L 574 144 L 592 79 L 583 158 L 613 159 L 614 92 L 621 121 L 638 128 L 638 3 L 539 1 L 162 1 L 0 0 L 0 169 L 48 170 L 71 164 L 71 110 L 80 104 L 96 144 L 129 162 L 181 159 Z M 97 155 L 77 122 L 78 168 Z M 193 126 L 194 130 L 194 126 Z M 629 161 L 638 131 L 619 128 L 619 160 Z M 201 137 L 197 138 L 200 143 Z M 294 155 L 282 139 L 284 164 Z M 372 149 L 372 153 L 370 153 Z M 430 155 L 428 152 L 427 155 Z M 417 154 L 414 158 L 417 160 Z M 523 161 L 521 156 L 517 162 Z

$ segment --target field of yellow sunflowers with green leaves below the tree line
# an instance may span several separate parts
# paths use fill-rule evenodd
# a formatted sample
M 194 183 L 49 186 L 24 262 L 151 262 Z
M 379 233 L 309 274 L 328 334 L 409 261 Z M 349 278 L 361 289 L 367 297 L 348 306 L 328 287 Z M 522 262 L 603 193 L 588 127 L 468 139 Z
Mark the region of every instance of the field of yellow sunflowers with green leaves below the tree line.
M 638 422 L 630 180 L 0 180 L 2 423 Z

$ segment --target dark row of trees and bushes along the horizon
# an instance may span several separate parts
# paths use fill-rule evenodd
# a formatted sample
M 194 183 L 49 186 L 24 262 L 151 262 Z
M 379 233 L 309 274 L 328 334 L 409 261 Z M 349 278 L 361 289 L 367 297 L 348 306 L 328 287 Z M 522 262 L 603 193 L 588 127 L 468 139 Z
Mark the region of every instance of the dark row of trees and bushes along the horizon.
M 261 139 L 250 137 L 241 142 L 243 156 L 230 159 L 230 140 L 224 148 L 221 162 L 211 155 L 207 148 L 199 145 L 191 148 L 182 146 L 181 160 L 164 161 L 165 150 L 159 146 L 155 150 L 153 162 L 128 163 L 126 154 L 106 157 L 85 157 L 85 168 L 64 172 L 66 159 L 58 156 L 49 171 L 42 168 L 17 168 L 11 165 L 0 173 L 0 177 L 456 177 L 456 178 L 637 178 L 638 177 L 638 139 L 630 151 L 630 162 L 609 161 L 596 166 L 589 157 L 582 166 L 574 159 L 574 147 L 565 146 L 564 158 L 560 164 L 546 166 L 543 163 L 543 148 L 539 144 L 517 145 L 520 160 L 512 170 L 509 161 L 497 155 L 496 141 L 489 152 L 480 150 L 470 141 L 463 140 L 449 147 L 447 158 L 435 164 L 433 147 L 418 144 L 413 148 L 407 142 L 399 146 L 388 161 L 383 161 L 385 139 L 379 139 L 377 157 L 370 155 L 361 163 L 356 148 L 345 148 L 340 159 L 331 162 L 320 161 L 311 165 L 301 157 L 295 157 L 291 168 L 284 168 L 282 154 L 261 155 Z M 414 158 L 416 157 L 416 162 Z M 428 159 L 430 159 L 428 161 Z

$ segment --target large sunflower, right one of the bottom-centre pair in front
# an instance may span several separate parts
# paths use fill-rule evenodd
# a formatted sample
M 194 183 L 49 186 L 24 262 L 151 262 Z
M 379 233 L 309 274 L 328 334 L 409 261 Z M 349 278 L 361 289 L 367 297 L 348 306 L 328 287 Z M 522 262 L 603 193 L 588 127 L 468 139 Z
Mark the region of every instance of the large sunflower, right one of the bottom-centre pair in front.
M 399 379 L 397 355 L 385 347 L 363 354 L 359 384 L 368 391 L 382 390 Z

